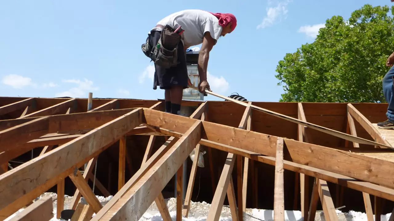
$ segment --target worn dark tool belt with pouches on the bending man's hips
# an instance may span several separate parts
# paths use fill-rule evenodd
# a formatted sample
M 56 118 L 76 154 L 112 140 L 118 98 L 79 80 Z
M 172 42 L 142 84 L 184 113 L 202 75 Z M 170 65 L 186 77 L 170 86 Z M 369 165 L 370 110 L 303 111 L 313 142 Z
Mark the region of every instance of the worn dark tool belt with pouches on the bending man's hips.
M 178 26 L 178 25 L 177 25 Z M 178 64 L 178 44 L 180 42 L 180 26 L 174 27 L 166 25 L 160 34 L 160 39 L 155 46 L 149 44 L 149 37 L 145 44 L 142 44 L 142 52 L 158 66 L 171 68 Z

